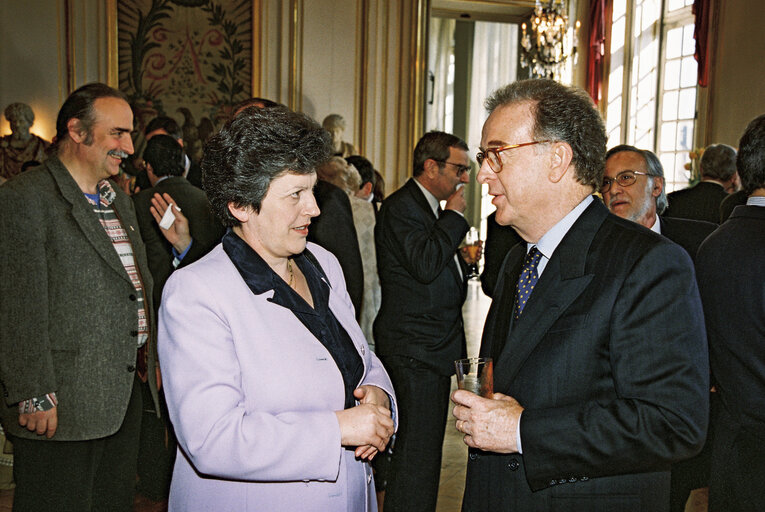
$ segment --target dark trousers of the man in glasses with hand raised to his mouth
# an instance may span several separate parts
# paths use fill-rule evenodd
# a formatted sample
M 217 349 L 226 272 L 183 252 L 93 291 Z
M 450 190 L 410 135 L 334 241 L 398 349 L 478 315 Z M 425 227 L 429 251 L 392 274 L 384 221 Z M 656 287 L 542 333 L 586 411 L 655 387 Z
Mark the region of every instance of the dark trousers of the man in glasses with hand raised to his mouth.
M 436 510 L 451 379 L 409 358 L 382 358 L 398 400 L 385 512 Z

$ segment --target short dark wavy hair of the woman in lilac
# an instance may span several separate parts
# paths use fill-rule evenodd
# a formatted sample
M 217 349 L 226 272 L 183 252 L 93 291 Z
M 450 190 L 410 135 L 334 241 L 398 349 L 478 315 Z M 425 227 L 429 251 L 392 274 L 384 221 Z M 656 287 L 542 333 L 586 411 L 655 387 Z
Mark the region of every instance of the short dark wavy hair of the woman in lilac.
M 239 221 L 228 205 L 260 205 L 271 182 L 290 172 L 313 174 L 332 154 L 329 134 L 305 114 L 286 107 L 247 107 L 204 147 L 202 182 L 226 226 Z

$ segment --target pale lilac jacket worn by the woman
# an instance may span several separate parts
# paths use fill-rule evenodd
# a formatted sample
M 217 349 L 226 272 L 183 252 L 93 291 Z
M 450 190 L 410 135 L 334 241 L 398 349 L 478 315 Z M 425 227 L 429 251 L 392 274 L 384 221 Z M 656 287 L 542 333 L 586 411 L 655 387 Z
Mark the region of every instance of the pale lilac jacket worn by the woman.
M 359 384 L 385 390 L 397 417 L 337 259 L 308 247 L 330 282 L 329 307 L 364 361 Z M 340 370 L 271 296 L 252 293 L 220 244 L 165 285 L 158 348 L 179 444 L 170 510 L 376 510 L 369 464 L 340 446 Z

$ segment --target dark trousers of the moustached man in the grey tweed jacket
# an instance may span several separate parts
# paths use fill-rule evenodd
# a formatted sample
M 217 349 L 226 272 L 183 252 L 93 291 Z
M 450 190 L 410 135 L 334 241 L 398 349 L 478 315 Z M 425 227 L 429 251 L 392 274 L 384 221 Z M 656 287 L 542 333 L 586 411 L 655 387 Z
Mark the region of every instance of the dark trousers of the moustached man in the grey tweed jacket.
M 14 512 L 133 509 L 141 431 L 139 384 L 136 378 L 122 425 L 108 437 L 90 441 L 12 438 Z

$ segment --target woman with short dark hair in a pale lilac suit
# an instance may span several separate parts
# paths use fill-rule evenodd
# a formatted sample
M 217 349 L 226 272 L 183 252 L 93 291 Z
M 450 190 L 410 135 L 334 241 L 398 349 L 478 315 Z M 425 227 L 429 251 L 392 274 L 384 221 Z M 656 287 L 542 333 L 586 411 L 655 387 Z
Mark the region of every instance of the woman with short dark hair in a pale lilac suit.
M 393 388 L 337 259 L 306 244 L 330 151 L 282 107 L 242 111 L 205 147 L 205 189 L 230 229 L 162 296 L 171 511 L 376 510 L 369 460 L 394 432 Z

